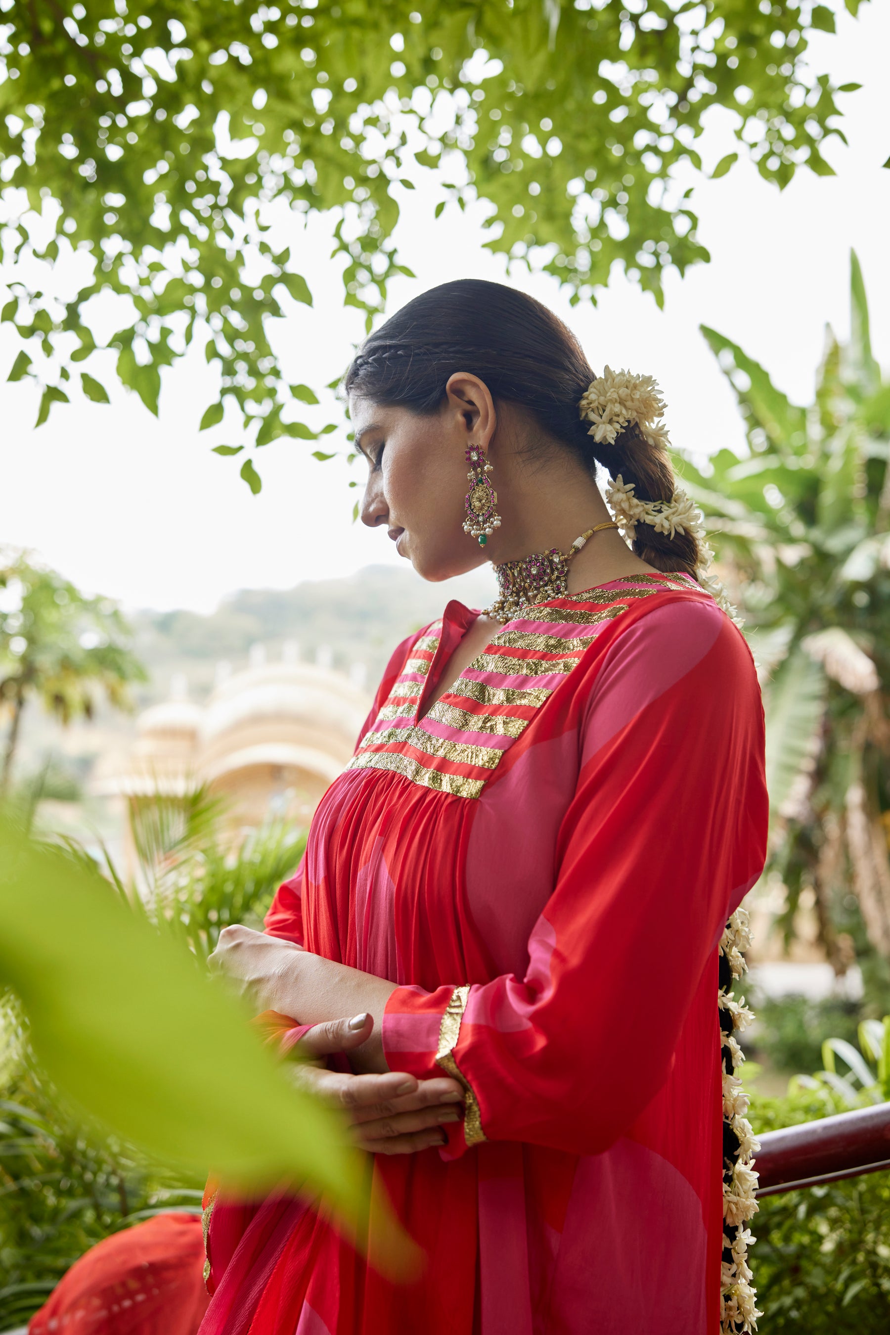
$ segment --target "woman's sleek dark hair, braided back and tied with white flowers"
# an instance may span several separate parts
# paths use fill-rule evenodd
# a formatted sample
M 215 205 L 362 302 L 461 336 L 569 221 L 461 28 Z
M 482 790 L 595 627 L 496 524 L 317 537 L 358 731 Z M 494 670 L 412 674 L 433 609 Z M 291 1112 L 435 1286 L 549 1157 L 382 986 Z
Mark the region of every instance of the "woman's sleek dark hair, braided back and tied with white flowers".
M 667 451 L 634 423 L 612 445 L 587 434 L 578 403 L 594 371 L 578 339 L 546 306 L 503 283 L 466 278 L 415 296 L 368 336 L 343 388 L 426 417 L 439 410 L 455 371 L 478 375 L 495 400 L 524 407 L 544 437 L 576 454 L 594 477 L 602 463 L 612 478 L 635 483 L 638 499 L 673 499 Z M 671 538 L 638 523 L 632 550 L 656 570 L 695 577 L 699 546 L 691 533 Z

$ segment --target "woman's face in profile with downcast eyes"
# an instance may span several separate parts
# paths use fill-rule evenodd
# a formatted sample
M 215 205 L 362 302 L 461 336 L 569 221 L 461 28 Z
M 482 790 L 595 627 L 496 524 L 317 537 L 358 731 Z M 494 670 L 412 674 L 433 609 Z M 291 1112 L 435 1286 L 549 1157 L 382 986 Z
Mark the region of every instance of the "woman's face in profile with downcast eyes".
M 456 384 L 459 379 L 471 383 Z M 479 398 L 487 403 L 480 406 Z M 463 531 L 463 521 L 467 447 L 484 449 L 494 434 L 486 386 L 476 376 L 452 376 L 446 400 L 430 417 L 354 395 L 350 415 L 368 463 L 362 522 L 386 525 L 399 555 L 424 579 L 448 579 L 482 565 L 486 554 Z

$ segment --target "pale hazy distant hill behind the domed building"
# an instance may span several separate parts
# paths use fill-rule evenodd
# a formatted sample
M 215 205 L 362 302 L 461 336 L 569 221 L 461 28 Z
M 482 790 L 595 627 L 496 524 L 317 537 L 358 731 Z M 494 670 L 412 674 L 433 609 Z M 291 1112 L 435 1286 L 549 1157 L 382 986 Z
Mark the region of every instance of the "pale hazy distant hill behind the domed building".
M 368 689 L 379 681 L 390 654 L 407 634 L 438 617 L 450 598 L 484 606 L 494 595 L 488 567 L 431 585 L 411 569 L 367 566 L 346 579 L 307 581 L 294 589 L 243 589 L 209 615 L 195 611 L 141 611 L 131 618 L 136 653 L 151 673 L 140 704 L 163 700 L 171 680 L 183 676 L 188 693 L 203 698 L 217 663 L 247 663 L 262 645 L 270 661 L 296 643 L 299 657 L 340 672 L 363 663 Z M 291 650 L 292 651 L 292 650 Z

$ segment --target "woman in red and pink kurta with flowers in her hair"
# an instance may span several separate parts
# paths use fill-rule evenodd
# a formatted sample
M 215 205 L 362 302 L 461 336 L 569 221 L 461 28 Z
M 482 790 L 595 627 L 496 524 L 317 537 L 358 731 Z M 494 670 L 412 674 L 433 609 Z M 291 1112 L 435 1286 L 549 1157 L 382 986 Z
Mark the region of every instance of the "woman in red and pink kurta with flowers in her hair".
M 348 1052 L 316 1087 L 423 1268 L 386 1279 L 306 1202 L 220 1202 L 201 1332 L 713 1335 L 719 941 L 763 865 L 763 718 L 656 386 L 482 282 L 410 302 L 344 383 L 363 522 L 426 579 L 492 561 L 500 597 L 396 649 L 267 934 L 219 963 Z

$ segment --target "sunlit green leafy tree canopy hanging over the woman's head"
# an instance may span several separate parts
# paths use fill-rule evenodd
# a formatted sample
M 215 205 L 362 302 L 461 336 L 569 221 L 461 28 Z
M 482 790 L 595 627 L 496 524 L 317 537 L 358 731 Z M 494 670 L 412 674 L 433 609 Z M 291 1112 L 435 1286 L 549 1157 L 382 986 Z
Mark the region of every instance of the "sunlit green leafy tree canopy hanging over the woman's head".
M 855 13 L 858 0 L 846 0 Z M 284 383 L 270 319 L 311 303 L 276 210 L 335 210 L 346 300 L 380 311 L 404 271 L 403 190 L 440 168 L 436 214 L 490 203 L 487 244 L 543 267 L 572 299 L 614 262 L 662 299 L 662 271 L 707 260 L 675 170 L 701 171 L 713 107 L 739 154 L 785 186 L 841 135 L 806 61 L 834 12 L 810 0 L 3 0 L 0 175 L 15 263 L 1 318 L 23 344 L 11 379 L 43 386 L 37 423 L 72 386 L 107 387 L 84 307 L 132 299 L 116 372 L 157 411 L 160 368 L 205 338 L 240 453 L 316 439 Z M 839 91 L 854 89 L 846 84 Z M 714 175 L 731 170 L 729 154 Z M 37 215 L 41 215 L 37 218 Z M 444 243 L 444 236 L 443 236 Z M 77 254 L 83 252 L 83 254 Z M 40 263 L 43 260 L 43 263 Z M 77 275 L 49 295 L 48 266 Z M 332 426 L 323 430 L 334 430 Z M 322 451 L 318 451 L 322 453 Z M 254 490 L 259 477 L 246 457 Z

